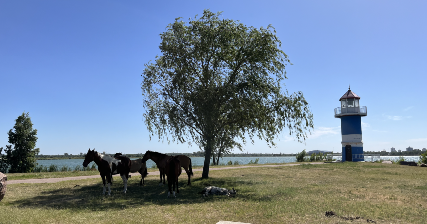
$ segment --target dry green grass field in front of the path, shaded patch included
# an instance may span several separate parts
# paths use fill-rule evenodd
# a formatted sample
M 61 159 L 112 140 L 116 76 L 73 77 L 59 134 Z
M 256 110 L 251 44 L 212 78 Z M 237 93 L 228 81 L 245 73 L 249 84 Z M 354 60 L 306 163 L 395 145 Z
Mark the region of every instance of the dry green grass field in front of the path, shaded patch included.
M 255 224 L 419 223 L 427 220 L 427 168 L 379 163 L 333 163 L 196 172 L 191 186 L 180 176 L 180 193 L 149 176 L 130 179 L 122 194 L 102 196 L 99 179 L 48 184 L 11 184 L 0 202 L 0 223 L 200 223 L 220 220 Z M 235 188 L 236 197 L 201 197 L 205 185 Z M 325 217 L 325 211 L 338 217 Z M 344 220 L 340 217 L 364 217 Z

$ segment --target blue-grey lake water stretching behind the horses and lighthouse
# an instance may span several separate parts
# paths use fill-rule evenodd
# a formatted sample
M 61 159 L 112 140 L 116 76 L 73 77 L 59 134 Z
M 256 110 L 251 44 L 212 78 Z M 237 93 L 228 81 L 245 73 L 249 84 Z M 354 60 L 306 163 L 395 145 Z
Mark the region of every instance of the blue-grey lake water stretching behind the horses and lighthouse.
M 403 156 L 405 158 L 405 161 L 414 161 L 418 162 L 419 157 L 418 156 Z M 224 162 L 227 164 L 228 161 L 239 161 L 239 164 L 248 164 L 251 160 L 255 161 L 257 158 L 259 158 L 258 163 L 259 164 L 269 164 L 269 163 L 292 163 L 296 162 L 295 157 L 223 157 L 219 160 L 219 163 Z M 382 160 L 397 160 L 399 156 L 381 156 Z M 137 159 L 137 158 L 131 158 L 131 159 Z M 193 166 L 203 166 L 204 158 L 202 157 L 191 157 L 191 162 Z M 212 159 L 211 159 L 212 161 Z M 82 166 L 83 159 L 71 159 L 71 160 L 37 160 L 37 163 L 43 166 L 49 166 L 51 164 L 55 164 L 58 167 L 62 167 L 64 165 L 68 167 L 75 167 L 77 165 Z M 93 162 L 92 162 L 93 163 Z M 154 162 L 152 160 L 147 161 L 147 167 L 151 168 L 151 166 L 154 165 Z

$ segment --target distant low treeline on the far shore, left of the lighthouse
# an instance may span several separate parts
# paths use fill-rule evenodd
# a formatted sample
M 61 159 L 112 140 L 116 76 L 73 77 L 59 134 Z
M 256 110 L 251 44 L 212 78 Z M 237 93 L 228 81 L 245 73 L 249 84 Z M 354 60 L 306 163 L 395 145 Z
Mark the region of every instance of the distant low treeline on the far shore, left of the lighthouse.
M 106 153 L 107 155 L 113 156 L 114 154 Z M 143 153 L 136 154 L 126 154 L 125 156 L 129 158 L 142 158 Z M 167 155 L 186 155 L 188 157 L 205 157 L 205 154 L 202 152 L 193 152 L 193 153 L 166 153 Z M 86 156 L 85 153 L 80 154 L 68 154 L 64 153 L 62 155 L 36 155 L 37 160 L 61 160 L 61 159 L 84 159 Z M 284 154 L 284 153 L 230 153 L 225 154 L 224 157 L 275 157 L 275 156 L 296 156 L 296 153 Z

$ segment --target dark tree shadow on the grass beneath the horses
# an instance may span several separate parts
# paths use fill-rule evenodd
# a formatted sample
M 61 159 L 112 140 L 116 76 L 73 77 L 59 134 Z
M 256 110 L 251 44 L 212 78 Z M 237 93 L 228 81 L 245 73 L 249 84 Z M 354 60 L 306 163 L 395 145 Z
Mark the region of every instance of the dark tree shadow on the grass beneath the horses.
M 145 180 L 145 186 L 139 186 L 139 180 L 129 180 L 127 193 L 122 193 L 123 182 L 115 181 L 111 187 L 111 196 L 103 196 L 102 185 L 99 183 L 89 186 L 75 186 L 40 192 L 37 196 L 11 201 L 11 206 L 17 207 L 46 207 L 54 209 L 89 209 L 93 211 L 113 209 L 121 210 L 146 205 L 175 205 L 204 203 L 212 200 L 233 200 L 226 196 L 202 197 L 198 194 L 205 186 L 221 186 L 238 190 L 239 186 L 253 185 L 250 181 L 225 179 L 192 179 L 192 185 L 187 185 L 187 178 L 180 178 L 176 198 L 167 198 L 167 182 L 158 186 L 158 180 Z M 101 186 L 101 187 L 100 187 Z M 230 187 L 231 186 L 231 187 Z M 108 193 L 108 187 L 107 192 Z M 237 194 L 239 197 L 239 194 Z

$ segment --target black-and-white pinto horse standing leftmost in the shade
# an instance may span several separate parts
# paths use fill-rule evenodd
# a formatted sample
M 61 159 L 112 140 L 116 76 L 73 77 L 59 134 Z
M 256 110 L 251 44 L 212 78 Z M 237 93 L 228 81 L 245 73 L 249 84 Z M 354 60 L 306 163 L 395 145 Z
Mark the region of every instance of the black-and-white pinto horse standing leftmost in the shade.
M 127 191 L 129 171 L 131 169 L 131 160 L 125 156 L 120 156 L 117 159 L 108 155 L 104 155 L 95 151 L 90 150 L 86 153 L 86 157 L 83 161 L 83 167 L 87 167 L 90 162 L 94 161 L 98 165 L 98 171 L 104 184 L 104 190 L 102 192 L 105 195 L 105 179 L 108 183 L 108 195 L 111 195 L 111 177 L 113 174 L 120 174 L 123 180 L 123 193 Z

